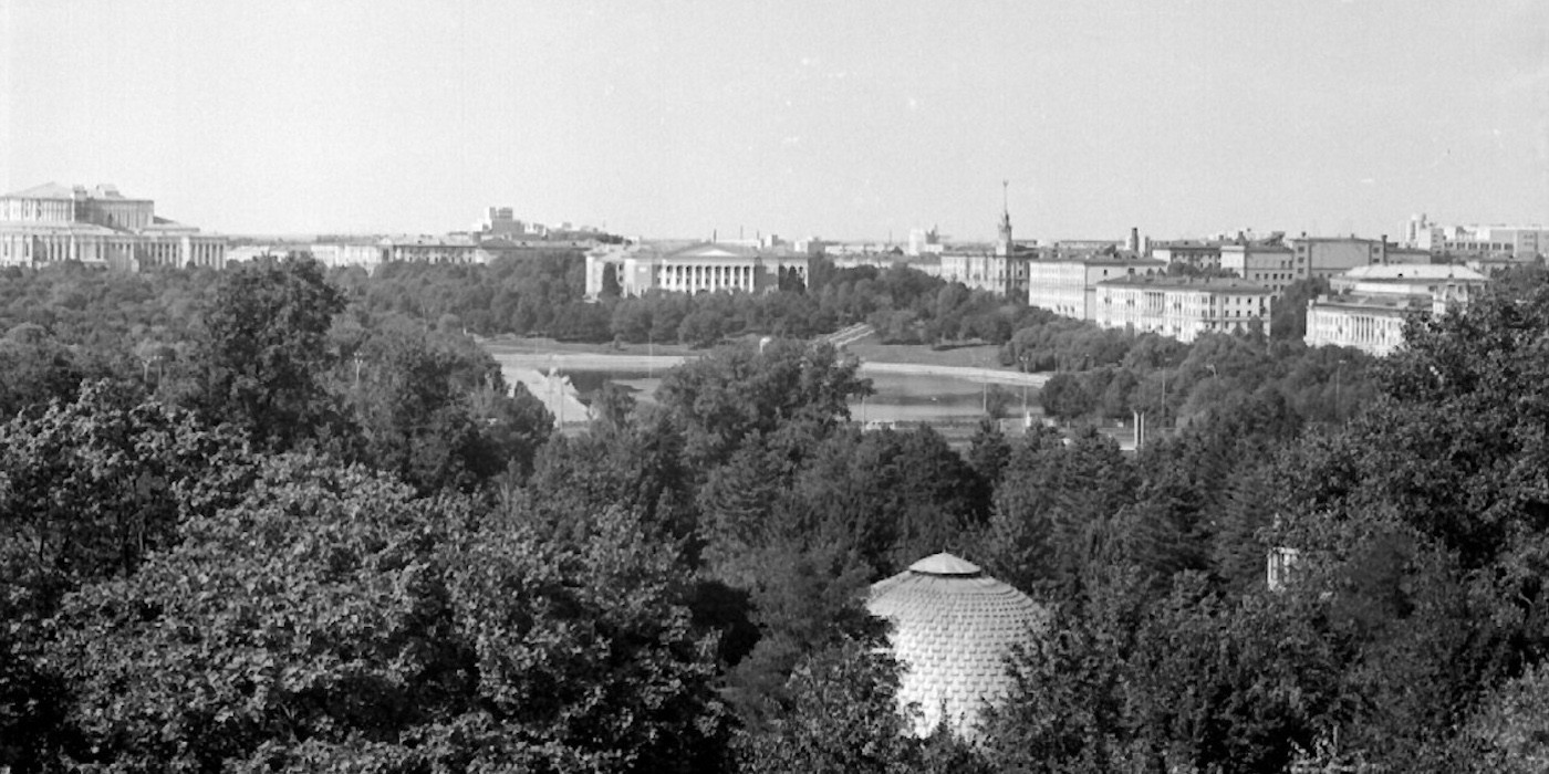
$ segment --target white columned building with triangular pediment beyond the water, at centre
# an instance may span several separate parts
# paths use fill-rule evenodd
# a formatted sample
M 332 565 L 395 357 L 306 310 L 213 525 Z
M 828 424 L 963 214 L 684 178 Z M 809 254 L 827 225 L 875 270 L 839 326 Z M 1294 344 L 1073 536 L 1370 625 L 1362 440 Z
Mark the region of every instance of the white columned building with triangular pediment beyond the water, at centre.
M 807 282 L 807 255 L 713 241 L 609 245 L 586 254 L 586 293 L 603 293 L 609 272 L 624 296 L 649 289 L 671 293 L 762 293 L 787 282 Z

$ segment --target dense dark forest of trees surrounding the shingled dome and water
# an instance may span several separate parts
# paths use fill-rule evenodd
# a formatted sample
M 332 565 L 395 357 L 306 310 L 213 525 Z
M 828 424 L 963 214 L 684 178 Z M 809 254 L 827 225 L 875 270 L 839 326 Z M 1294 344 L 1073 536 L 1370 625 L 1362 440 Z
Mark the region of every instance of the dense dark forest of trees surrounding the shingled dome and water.
M 861 432 L 857 364 L 795 337 L 553 435 L 462 331 L 618 336 L 634 300 L 568 271 L 0 272 L 0 768 L 1543 769 L 1544 277 L 1382 361 L 897 271 L 640 300 L 647 330 L 900 316 L 1061 368 L 1075 430 L 959 454 Z M 1121 407 L 1177 429 L 1081 426 Z M 1272 548 L 1300 551 L 1281 591 Z M 1052 610 L 974 743 L 902 734 L 863 608 L 942 550 Z

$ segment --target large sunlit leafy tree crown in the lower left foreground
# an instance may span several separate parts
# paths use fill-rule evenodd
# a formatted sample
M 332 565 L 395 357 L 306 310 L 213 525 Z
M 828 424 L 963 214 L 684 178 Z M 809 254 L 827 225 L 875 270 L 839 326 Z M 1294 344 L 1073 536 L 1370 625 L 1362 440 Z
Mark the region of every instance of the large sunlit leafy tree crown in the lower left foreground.
M 314 457 L 67 599 L 81 763 L 680 769 L 714 751 L 714 639 L 624 512 L 582 545 Z M 697 757 L 699 755 L 699 757 Z

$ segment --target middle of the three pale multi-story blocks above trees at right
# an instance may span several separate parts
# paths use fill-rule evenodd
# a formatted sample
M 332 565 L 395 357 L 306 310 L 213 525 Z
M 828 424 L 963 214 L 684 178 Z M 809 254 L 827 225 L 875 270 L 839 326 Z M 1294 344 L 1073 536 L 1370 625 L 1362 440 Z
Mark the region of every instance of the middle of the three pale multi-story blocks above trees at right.
M 1205 333 L 1245 333 L 1269 325 L 1275 293 L 1250 280 L 1169 276 L 1098 283 L 1095 322 L 1191 342 Z

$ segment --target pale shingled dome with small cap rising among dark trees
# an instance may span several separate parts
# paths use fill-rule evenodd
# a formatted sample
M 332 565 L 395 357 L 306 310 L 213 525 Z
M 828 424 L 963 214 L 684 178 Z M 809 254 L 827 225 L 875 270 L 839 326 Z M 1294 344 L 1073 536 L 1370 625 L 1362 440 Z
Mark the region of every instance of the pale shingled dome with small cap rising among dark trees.
M 1010 689 L 1011 646 L 1047 622 L 1042 605 L 953 554 L 872 584 L 866 608 L 892 622 L 894 656 L 908 667 L 898 701 L 919 706 L 914 732 L 922 737 L 943 718 L 974 737 L 981 707 Z

